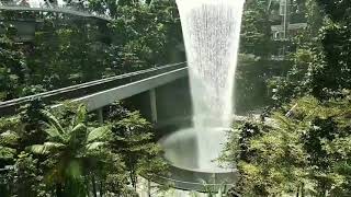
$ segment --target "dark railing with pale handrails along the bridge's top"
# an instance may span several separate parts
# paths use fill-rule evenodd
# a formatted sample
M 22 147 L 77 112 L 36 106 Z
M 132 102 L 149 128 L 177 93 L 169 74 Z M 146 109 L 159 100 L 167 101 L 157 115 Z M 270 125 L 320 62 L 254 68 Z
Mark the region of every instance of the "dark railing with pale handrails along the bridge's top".
M 24 105 L 35 99 L 41 99 L 45 104 L 52 105 L 63 101 L 82 97 L 97 92 L 105 91 L 116 86 L 125 85 L 143 79 L 167 73 L 186 67 L 186 62 L 178 62 L 160 67 L 154 67 L 146 70 L 129 72 L 121 76 L 110 77 L 101 80 L 90 81 L 63 89 L 47 91 L 35 95 L 19 97 L 5 102 L 0 102 L 0 116 L 13 115 L 21 105 Z

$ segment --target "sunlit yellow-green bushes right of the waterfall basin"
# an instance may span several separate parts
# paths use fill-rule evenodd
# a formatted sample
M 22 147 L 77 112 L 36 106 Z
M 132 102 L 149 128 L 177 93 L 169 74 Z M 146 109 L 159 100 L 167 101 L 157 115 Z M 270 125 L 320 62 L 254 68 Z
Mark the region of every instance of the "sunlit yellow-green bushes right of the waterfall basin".
M 246 196 L 350 195 L 350 95 L 319 102 L 307 96 L 292 116 L 276 112 L 270 121 L 251 121 L 233 134 L 227 146 Z M 291 108 L 292 105 L 286 106 Z

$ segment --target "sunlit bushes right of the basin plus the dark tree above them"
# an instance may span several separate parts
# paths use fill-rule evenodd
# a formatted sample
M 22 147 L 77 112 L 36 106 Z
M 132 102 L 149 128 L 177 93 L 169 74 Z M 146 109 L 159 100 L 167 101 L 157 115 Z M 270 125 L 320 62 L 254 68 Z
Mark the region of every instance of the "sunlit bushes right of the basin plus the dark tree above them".
M 223 159 L 238 164 L 244 196 L 350 196 L 350 3 L 306 0 L 307 28 L 275 101 L 260 119 L 235 124 Z

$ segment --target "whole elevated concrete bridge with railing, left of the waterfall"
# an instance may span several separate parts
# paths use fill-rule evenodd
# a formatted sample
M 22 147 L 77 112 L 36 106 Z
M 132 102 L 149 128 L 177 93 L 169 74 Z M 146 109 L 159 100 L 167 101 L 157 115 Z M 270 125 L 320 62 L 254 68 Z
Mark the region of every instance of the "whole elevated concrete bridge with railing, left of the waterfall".
M 20 106 L 42 99 L 44 103 L 57 107 L 59 102 L 84 103 L 89 111 L 99 109 L 117 100 L 124 100 L 141 92 L 154 90 L 188 76 L 186 62 L 155 67 L 106 79 L 57 89 L 35 95 L 0 102 L 0 116 L 12 115 Z

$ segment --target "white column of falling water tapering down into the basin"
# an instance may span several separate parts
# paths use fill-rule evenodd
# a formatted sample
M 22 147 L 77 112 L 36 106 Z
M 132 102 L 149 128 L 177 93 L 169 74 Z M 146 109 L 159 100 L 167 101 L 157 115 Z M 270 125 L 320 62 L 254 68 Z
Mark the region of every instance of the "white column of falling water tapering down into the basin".
M 245 0 L 177 0 L 193 102 L 193 129 L 197 138 L 197 167 L 219 171 L 213 160 L 223 150 L 230 127 Z

